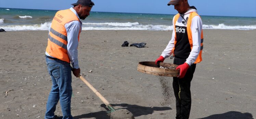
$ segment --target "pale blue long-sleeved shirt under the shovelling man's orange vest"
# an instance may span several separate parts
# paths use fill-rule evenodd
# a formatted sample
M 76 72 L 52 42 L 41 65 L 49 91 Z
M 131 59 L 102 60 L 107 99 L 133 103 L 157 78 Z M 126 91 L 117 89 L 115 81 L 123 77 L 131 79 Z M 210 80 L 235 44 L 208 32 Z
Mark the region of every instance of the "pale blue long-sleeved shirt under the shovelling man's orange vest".
M 70 10 L 79 18 L 78 14 L 73 8 L 70 8 Z M 72 21 L 65 24 L 65 28 L 67 31 L 67 54 L 73 68 L 75 69 L 79 68 L 77 48 L 78 48 L 78 35 L 79 35 L 79 32 L 81 32 L 82 30 L 81 26 L 82 26 L 82 23 L 80 21 Z M 50 31 L 50 28 L 49 28 L 49 31 Z M 50 56 L 47 52 L 46 52 L 46 55 Z

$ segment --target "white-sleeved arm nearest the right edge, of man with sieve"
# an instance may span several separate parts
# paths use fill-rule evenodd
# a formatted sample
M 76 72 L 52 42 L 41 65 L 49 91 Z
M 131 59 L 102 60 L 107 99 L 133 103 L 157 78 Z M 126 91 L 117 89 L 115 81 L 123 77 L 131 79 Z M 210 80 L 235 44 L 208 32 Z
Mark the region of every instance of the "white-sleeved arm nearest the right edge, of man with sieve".
M 200 16 L 195 16 L 192 19 L 191 32 L 192 32 L 193 47 L 186 61 L 186 63 L 189 64 L 189 66 L 195 62 L 197 56 L 200 53 L 201 32 L 202 32 L 202 19 L 200 18 Z

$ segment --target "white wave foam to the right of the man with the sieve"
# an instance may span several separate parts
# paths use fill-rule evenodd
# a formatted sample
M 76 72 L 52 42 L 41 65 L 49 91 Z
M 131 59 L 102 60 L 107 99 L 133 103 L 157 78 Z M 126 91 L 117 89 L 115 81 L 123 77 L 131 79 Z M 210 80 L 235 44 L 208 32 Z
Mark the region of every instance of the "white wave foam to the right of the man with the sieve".
M 256 25 L 249 26 L 226 26 L 225 24 L 219 25 L 203 25 L 203 29 L 237 29 L 237 30 L 252 30 L 256 29 Z

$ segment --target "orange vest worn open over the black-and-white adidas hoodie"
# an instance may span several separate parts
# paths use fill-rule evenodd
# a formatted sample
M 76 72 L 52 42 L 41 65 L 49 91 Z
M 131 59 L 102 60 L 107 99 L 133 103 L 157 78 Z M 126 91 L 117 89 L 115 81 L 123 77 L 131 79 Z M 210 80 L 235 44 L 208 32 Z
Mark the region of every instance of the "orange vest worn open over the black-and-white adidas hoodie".
M 188 19 L 188 24 L 187 24 L 187 32 L 188 32 L 188 38 L 189 38 L 189 44 L 190 44 L 190 48 L 192 50 L 193 47 L 193 40 L 192 40 L 192 32 L 191 32 L 191 23 L 192 23 L 192 19 L 194 16 L 199 16 L 196 12 L 191 12 L 189 15 L 189 19 Z M 175 30 L 175 40 L 174 40 L 174 46 L 176 44 L 176 22 L 178 21 L 180 17 L 180 14 L 176 14 L 174 16 L 174 30 Z M 203 30 L 201 31 L 201 48 L 200 48 L 200 52 L 198 57 L 196 58 L 194 64 L 199 63 L 202 61 L 202 50 L 203 50 L 203 41 L 204 41 L 204 36 L 203 36 Z M 175 47 L 173 48 L 172 52 L 174 52 Z

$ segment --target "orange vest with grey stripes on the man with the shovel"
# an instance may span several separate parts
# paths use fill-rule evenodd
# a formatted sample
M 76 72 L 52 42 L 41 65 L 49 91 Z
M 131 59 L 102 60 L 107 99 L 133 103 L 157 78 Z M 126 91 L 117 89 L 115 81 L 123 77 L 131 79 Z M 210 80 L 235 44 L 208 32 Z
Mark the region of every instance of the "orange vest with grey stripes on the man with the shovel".
M 65 24 L 72 21 L 80 20 L 70 9 L 61 10 L 55 14 L 52 20 L 52 25 L 48 36 L 48 45 L 46 48 L 46 52 L 50 56 L 68 63 L 70 63 L 70 59 L 67 54 L 67 31 Z

